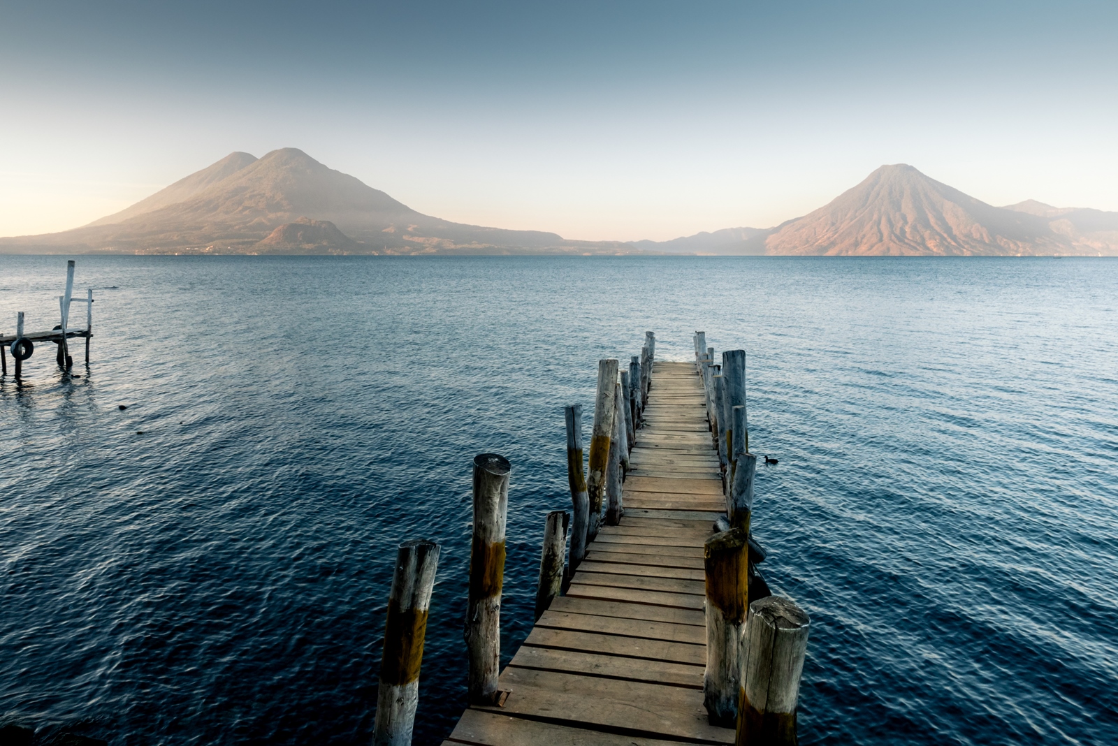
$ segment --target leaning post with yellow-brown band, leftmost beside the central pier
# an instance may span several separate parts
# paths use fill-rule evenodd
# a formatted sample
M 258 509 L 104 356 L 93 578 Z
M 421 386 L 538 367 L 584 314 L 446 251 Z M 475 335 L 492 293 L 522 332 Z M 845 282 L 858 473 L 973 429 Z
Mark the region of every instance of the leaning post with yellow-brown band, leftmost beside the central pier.
M 396 555 L 385 623 L 385 650 L 380 658 L 373 746 L 411 744 L 419 702 L 419 664 L 438 553 L 438 544 L 420 541 L 400 544 Z

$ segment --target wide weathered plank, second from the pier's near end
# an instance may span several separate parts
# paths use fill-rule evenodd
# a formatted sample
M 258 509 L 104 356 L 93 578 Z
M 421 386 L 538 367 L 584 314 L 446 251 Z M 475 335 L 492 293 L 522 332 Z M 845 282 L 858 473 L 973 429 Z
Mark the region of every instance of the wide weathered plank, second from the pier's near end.
M 624 728 L 653 738 L 733 743 L 732 730 L 707 723 L 702 692 L 694 689 L 517 667 L 505 669 L 501 687 L 512 692 L 500 710 L 509 714 Z

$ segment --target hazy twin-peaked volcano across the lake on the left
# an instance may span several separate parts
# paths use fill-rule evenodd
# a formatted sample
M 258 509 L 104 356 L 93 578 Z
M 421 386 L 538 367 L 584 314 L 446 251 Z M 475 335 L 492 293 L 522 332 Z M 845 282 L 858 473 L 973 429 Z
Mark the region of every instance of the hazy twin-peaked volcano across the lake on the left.
M 332 228 L 318 223 L 332 223 Z M 290 228 L 272 236 L 281 227 Z M 341 238 L 332 231 L 340 231 Z M 297 238 L 295 243 L 292 237 Z M 225 254 L 637 251 L 620 242 L 566 241 L 556 233 L 466 226 L 425 216 L 294 147 L 272 151 L 262 159 L 233 153 L 83 228 L 0 239 L 0 250 L 9 251 L 169 252 L 202 247 Z

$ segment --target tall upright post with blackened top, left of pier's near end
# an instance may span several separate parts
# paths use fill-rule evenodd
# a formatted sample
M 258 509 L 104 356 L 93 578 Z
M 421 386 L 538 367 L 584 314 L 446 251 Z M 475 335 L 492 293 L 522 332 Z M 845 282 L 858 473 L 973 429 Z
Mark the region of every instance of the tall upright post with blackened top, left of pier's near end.
M 509 511 L 509 460 L 496 453 L 474 458 L 474 536 L 470 548 L 466 608 L 467 696 L 476 705 L 498 704 L 501 662 L 501 589 L 504 526 Z

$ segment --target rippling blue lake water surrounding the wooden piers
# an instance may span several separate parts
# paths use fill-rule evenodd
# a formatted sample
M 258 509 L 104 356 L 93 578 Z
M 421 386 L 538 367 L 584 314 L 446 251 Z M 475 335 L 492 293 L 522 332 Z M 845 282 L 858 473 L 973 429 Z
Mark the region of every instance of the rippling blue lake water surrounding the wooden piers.
M 0 257 L 0 329 L 56 323 L 63 259 Z M 1118 743 L 1118 261 L 78 257 L 88 286 L 83 377 L 40 348 L 0 383 L 0 723 L 364 744 L 395 547 L 433 537 L 437 744 L 471 459 L 513 465 L 508 659 L 561 405 L 703 328 L 780 460 L 754 524 L 813 620 L 802 743 Z

